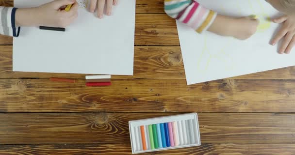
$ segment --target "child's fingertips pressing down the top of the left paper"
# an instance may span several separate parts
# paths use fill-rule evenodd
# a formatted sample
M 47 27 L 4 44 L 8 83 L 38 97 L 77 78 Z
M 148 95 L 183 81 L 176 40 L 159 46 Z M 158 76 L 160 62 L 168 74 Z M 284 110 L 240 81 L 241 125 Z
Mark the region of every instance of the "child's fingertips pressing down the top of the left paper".
M 102 18 L 104 5 L 107 5 L 106 14 L 108 16 L 112 15 L 112 7 L 118 3 L 118 0 L 91 0 L 90 2 L 90 12 L 94 12 L 95 8 L 98 7 L 98 18 Z

